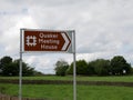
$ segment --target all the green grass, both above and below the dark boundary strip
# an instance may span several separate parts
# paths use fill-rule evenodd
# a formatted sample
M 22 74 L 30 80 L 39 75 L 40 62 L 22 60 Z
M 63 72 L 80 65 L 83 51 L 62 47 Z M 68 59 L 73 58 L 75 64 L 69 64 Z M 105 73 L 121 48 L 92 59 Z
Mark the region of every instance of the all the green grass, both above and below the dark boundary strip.
M 72 76 L 23 77 L 27 80 L 72 80 Z M 19 77 L 0 77 L 0 79 L 19 79 Z M 79 81 L 123 81 L 133 82 L 133 76 L 126 77 L 76 77 Z M 0 92 L 18 96 L 19 84 L 0 83 Z M 23 84 L 22 96 L 47 100 L 73 100 L 71 84 Z M 108 86 L 78 86 L 78 100 L 133 100 L 133 88 Z

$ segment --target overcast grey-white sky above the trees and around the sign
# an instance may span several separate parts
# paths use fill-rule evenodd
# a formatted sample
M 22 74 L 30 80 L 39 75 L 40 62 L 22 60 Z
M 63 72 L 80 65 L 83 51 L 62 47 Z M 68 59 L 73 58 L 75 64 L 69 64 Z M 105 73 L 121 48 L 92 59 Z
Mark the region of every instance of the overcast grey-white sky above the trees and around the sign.
M 75 30 L 76 59 L 123 56 L 133 63 L 133 0 L 0 0 L 0 58 L 19 59 L 20 29 Z M 54 73 L 66 53 L 23 54 L 44 73 Z

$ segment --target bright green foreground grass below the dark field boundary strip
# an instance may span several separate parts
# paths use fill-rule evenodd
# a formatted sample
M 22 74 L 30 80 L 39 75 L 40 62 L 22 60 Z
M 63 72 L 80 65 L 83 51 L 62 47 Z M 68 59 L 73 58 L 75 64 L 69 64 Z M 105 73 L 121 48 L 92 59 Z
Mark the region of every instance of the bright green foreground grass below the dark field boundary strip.
M 17 84 L 1 84 L 4 93 L 18 96 Z M 23 84 L 23 97 L 45 98 L 48 100 L 73 100 L 72 86 Z M 78 100 L 133 100 L 133 88 L 78 86 Z

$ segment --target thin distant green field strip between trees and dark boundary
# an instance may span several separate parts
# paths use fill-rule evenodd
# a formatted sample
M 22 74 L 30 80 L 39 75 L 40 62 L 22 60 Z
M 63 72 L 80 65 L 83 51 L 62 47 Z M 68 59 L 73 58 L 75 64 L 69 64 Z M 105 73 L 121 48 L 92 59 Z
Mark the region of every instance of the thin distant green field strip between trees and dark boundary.
M 0 79 L 19 79 L 19 77 L 0 77 Z M 57 77 L 57 76 L 45 76 L 45 77 L 23 77 L 24 80 L 72 80 L 72 76 L 68 77 Z M 76 77 L 79 81 L 122 81 L 122 82 L 133 82 L 133 76 L 126 77 Z

